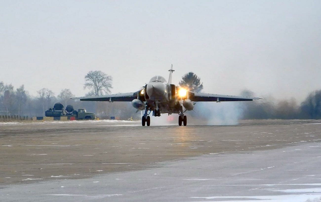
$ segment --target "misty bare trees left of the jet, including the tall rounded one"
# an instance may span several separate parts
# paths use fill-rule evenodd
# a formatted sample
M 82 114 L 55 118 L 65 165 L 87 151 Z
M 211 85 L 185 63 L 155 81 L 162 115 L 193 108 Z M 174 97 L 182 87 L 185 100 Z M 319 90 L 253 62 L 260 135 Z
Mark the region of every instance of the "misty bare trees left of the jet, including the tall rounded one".
M 88 89 L 86 96 L 103 95 L 110 93 L 112 88 L 112 77 L 101 71 L 90 71 L 84 77 L 83 88 Z M 135 113 L 128 102 L 91 102 L 71 100 L 74 94 L 70 89 L 62 89 L 56 95 L 49 88 L 41 88 L 37 91 L 37 96 L 31 96 L 24 85 L 15 88 L 11 84 L 4 84 L 0 81 L 0 115 L 22 115 L 29 117 L 42 117 L 45 111 L 52 108 L 56 102 L 60 102 L 66 107 L 73 105 L 74 109 L 85 108 L 89 112 L 94 112 L 99 118 L 117 117 L 127 120 L 130 117 L 139 118 L 140 113 Z

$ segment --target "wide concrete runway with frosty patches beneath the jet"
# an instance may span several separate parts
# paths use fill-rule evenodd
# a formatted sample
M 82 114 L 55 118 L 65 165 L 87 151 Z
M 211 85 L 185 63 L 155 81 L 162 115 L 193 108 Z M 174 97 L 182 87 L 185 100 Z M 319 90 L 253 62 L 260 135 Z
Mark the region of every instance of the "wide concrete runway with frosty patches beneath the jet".
M 321 201 L 321 122 L 0 125 L 0 201 Z

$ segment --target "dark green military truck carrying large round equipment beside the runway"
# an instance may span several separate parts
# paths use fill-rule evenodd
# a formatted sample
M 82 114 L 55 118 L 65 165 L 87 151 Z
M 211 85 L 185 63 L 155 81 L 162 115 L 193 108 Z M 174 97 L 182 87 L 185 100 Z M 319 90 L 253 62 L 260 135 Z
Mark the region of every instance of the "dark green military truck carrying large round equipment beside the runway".
M 95 114 L 87 112 L 86 109 L 74 110 L 72 105 L 67 105 L 64 113 L 64 105 L 57 102 L 53 108 L 45 112 L 46 117 L 54 117 L 54 120 L 60 120 L 60 117 L 67 117 L 69 120 L 95 120 Z M 55 118 L 56 117 L 56 118 Z

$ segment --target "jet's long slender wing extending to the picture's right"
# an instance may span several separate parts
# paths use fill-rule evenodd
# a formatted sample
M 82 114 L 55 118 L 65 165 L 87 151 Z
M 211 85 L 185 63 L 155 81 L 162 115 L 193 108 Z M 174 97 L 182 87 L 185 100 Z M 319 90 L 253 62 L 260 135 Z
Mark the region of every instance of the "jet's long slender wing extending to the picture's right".
M 218 95 L 209 93 L 195 93 L 189 92 L 189 99 L 194 102 L 223 102 L 223 101 L 253 101 L 262 98 L 247 97 L 247 96 L 234 96 L 234 95 Z

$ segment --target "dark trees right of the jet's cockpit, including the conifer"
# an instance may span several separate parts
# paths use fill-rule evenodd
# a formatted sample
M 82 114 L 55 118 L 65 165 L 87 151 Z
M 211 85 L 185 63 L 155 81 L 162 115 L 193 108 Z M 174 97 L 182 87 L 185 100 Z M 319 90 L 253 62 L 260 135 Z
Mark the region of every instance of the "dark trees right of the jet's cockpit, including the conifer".
M 203 89 L 203 83 L 193 72 L 185 74 L 179 85 L 194 92 L 201 92 Z M 256 97 L 255 93 L 250 90 L 243 90 L 241 95 Z M 311 92 L 300 104 L 294 98 L 277 102 L 274 100 L 270 97 L 234 104 L 241 110 L 240 118 L 242 119 L 321 119 L 321 90 Z

